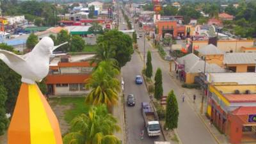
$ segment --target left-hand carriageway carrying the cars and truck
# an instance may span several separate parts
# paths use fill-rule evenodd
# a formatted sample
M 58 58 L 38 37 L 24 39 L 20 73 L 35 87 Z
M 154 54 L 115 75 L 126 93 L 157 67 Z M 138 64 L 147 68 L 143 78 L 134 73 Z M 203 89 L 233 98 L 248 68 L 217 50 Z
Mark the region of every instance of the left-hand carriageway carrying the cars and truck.
M 126 25 L 122 24 L 123 22 L 124 18 L 122 17 L 119 29 L 126 28 Z M 125 82 L 124 93 L 125 114 L 127 120 L 127 144 L 153 144 L 154 141 L 163 141 L 163 136 L 150 138 L 147 136 L 146 131 L 143 140 L 140 140 L 141 129 L 144 129 L 144 121 L 140 107 L 141 102 L 150 101 L 145 84 L 137 85 L 134 83 L 135 76 L 141 74 L 142 68 L 143 62 L 137 52 L 132 54 L 132 60 L 122 68 L 122 76 L 124 77 Z M 126 106 L 126 97 L 129 93 L 134 94 L 136 97 L 136 104 L 133 107 Z

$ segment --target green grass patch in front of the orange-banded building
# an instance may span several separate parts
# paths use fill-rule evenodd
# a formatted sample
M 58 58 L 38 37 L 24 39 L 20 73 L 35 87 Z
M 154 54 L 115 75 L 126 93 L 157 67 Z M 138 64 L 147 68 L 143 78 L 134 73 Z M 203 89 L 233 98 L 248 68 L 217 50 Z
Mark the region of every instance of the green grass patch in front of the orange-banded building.
M 65 111 L 64 119 L 69 124 L 73 118 L 82 113 L 88 113 L 90 106 L 84 103 L 84 97 L 60 97 L 60 98 L 51 98 L 51 105 L 72 105 L 71 109 Z

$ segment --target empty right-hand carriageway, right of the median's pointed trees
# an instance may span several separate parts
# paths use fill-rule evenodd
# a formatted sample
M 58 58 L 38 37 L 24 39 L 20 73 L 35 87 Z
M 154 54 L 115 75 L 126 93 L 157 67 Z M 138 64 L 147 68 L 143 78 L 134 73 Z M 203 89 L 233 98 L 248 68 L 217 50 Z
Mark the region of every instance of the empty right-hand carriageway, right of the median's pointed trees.
M 138 28 L 138 27 L 137 27 Z M 143 38 L 138 40 L 138 47 L 143 54 Z M 175 84 L 170 75 L 168 74 L 170 68 L 166 61 L 161 60 L 156 49 L 152 49 L 151 45 L 146 42 L 146 54 L 147 51 L 152 51 L 152 66 L 153 76 L 155 75 L 157 67 L 161 68 L 163 75 L 163 94 L 167 95 L 170 90 L 174 90 L 179 104 L 179 126 L 177 132 L 183 144 L 216 144 L 214 138 L 204 127 L 204 124 L 195 113 L 194 109 L 189 106 L 188 102 L 182 102 L 181 96 L 182 90 L 180 86 Z M 147 55 L 146 55 L 147 57 Z M 191 95 L 189 95 L 191 96 Z

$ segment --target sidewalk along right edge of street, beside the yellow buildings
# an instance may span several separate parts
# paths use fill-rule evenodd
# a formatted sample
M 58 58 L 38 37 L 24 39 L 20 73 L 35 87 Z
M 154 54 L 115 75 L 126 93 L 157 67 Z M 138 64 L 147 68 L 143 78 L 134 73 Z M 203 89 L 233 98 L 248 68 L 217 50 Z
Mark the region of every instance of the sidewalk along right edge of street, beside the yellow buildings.
M 201 107 L 201 100 L 202 100 L 202 91 L 201 90 L 196 90 L 195 88 L 189 89 L 189 88 L 182 88 L 179 79 L 176 79 L 176 74 L 175 72 L 170 72 L 170 77 L 171 79 L 180 86 L 182 91 L 185 93 L 186 98 L 185 101 L 188 102 L 189 106 L 193 108 L 196 112 L 196 114 L 199 116 L 200 120 L 204 123 L 205 127 L 207 128 L 207 131 L 209 131 L 214 139 L 217 141 L 217 143 L 220 144 L 228 144 L 228 139 L 227 136 L 224 134 L 221 134 L 214 125 L 210 124 L 210 120 L 205 116 L 205 112 L 207 109 L 207 103 L 206 99 L 204 99 L 204 112 L 201 114 L 200 113 L 200 107 Z M 193 102 L 193 95 L 196 95 L 196 100 L 195 103 Z

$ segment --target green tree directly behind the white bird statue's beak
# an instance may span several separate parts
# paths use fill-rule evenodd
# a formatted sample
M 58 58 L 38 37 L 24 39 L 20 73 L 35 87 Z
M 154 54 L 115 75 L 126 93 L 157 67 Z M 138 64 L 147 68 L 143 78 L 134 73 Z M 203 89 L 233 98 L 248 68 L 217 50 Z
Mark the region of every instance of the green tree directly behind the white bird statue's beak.
M 57 44 L 61 44 L 64 42 L 70 42 L 70 35 L 68 35 L 68 32 L 65 30 L 61 30 L 60 33 L 57 35 Z M 62 45 L 61 47 L 58 48 L 58 51 L 64 51 L 68 52 L 70 48 L 70 45 Z

